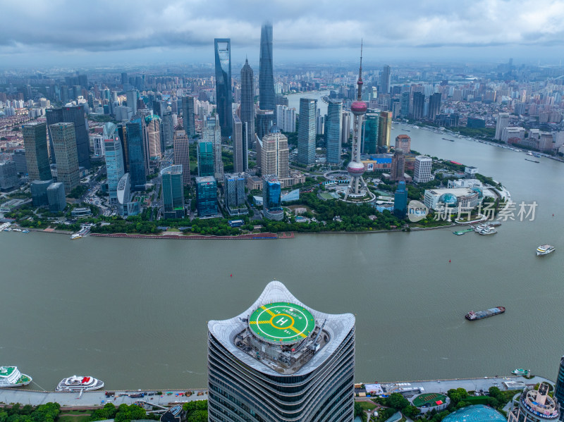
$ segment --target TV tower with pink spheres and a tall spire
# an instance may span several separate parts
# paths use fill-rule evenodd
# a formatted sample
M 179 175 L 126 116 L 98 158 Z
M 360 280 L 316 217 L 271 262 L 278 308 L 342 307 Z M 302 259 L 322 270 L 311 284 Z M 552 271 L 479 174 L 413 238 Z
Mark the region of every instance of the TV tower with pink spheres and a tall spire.
M 364 182 L 362 178 L 364 164 L 360 161 L 360 132 L 362 130 L 362 120 L 364 120 L 364 114 L 366 114 L 367 111 L 367 105 L 362 101 L 362 43 L 360 44 L 360 69 L 358 70 L 357 85 L 357 101 L 354 101 L 350 106 L 350 111 L 355 115 L 355 120 L 353 123 L 353 154 L 347 166 L 347 171 L 350 175 L 350 183 L 345 193 L 345 200 L 349 196 L 360 199 L 366 194 L 365 189 L 359 189 L 359 185 L 366 188 L 366 182 Z

